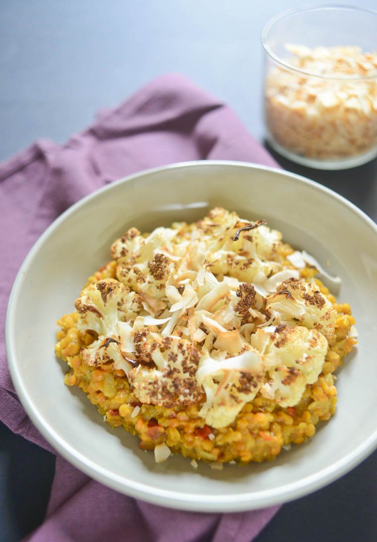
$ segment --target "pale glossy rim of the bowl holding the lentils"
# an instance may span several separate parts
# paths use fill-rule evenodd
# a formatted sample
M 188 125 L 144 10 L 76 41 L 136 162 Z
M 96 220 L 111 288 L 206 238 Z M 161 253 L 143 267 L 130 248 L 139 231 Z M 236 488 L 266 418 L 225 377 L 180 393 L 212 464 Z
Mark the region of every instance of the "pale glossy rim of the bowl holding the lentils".
M 55 231 L 55 229 L 60 227 L 60 224 L 64 222 L 68 216 L 74 214 L 78 209 L 80 209 L 80 207 L 86 205 L 92 199 L 99 197 L 102 192 L 112 190 L 114 186 L 118 186 L 122 183 L 128 183 L 140 177 L 153 173 L 159 173 L 161 171 L 172 169 L 179 170 L 187 167 L 196 168 L 198 166 L 237 166 L 246 169 L 270 171 L 272 173 L 278 173 L 278 175 L 283 177 L 288 177 L 296 183 L 304 183 L 311 189 L 319 190 L 320 192 L 323 192 L 324 195 L 343 204 L 346 209 L 354 212 L 356 215 L 362 218 L 362 220 L 366 222 L 370 228 L 372 228 L 377 236 L 377 224 L 375 224 L 374 221 L 365 214 L 365 212 L 361 211 L 361 209 L 356 207 L 356 205 L 354 205 L 352 202 L 349 202 L 343 196 L 337 194 L 326 186 L 322 186 L 314 180 L 307 179 L 301 175 L 297 175 L 296 173 L 281 170 L 278 167 L 264 166 L 249 162 L 239 162 L 236 160 L 194 160 L 192 162 L 179 162 L 168 164 L 166 166 L 153 167 L 133 173 L 132 175 L 122 177 L 121 179 L 103 186 L 101 189 L 95 190 L 89 195 L 81 198 L 66 211 L 64 211 L 59 217 L 57 217 L 34 243 L 27 257 L 19 268 L 14 285 L 11 289 L 5 321 L 6 355 L 8 358 L 10 375 L 18 398 L 32 423 L 34 423 L 35 427 L 46 438 L 51 446 L 53 446 L 53 448 L 59 452 L 64 459 L 72 463 L 76 468 L 100 483 L 104 483 L 106 486 L 115 489 L 116 491 L 133 496 L 134 498 L 151 502 L 155 505 L 196 512 L 241 512 L 282 504 L 283 502 L 300 498 L 301 496 L 312 493 L 317 489 L 328 485 L 330 482 L 339 479 L 343 474 L 346 474 L 358 466 L 359 463 L 366 459 L 366 457 L 373 453 L 374 449 L 377 448 L 377 425 L 375 431 L 367 438 L 366 441 L 362 442 L 358 447 L 339 461 L 331 464 L 331 466 L 324 468 L 323 470 L 306 476 L 299 481 L 289 483 L 281 488 L 266 489 L 254 493 L 244 493 L 242 495 L 206 495 L 205 493 L 201 493 L 200 496 L 198 496 L 196 493 L 181 494 L 171 489 L 153 488 L 145 485 L 144 483 L 127 480 L 118 474 L 109 472 L 107 469 L 95 464 L 93 461 L 88 460 L 80 453 L 80 451 L 75 450 L 69 443 L 64 441 L 64 438 L 59 435 L 59 431 L 56 431 L 56 429 L 51 427 L 46 421 L 43 420 L 43 417 L 39 414 L 36 405 L 33 404 L 29 398 L 27 388 L 25 388 L 23 385 L 22 376 L 17 366 L 15 337 L 13 337 L 12 334 L 15 321 L 15 306 L 18 290 L 24 280 L 25 270 L 27 269 L 29 263 L 32 262 L 35 255 L 38 253 L 38 250 L 44 244 L 47 238 Z

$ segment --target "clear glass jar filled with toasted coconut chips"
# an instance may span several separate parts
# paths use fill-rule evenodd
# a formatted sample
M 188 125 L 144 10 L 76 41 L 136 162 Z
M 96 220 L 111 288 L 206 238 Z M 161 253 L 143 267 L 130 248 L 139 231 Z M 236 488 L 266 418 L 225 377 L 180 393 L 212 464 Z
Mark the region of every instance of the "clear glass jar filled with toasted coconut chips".
M 262 32 L 268 141 L 309 167 L 377 156 L 377 13 L 340 5 L 285 11 Z

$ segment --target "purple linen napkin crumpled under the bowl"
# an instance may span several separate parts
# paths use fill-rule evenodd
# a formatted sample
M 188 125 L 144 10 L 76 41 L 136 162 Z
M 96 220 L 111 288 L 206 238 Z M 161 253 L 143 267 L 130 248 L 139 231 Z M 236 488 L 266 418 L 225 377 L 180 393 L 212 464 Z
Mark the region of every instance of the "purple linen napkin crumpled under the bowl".
M 167 75 L 100 113 L 66 145 L 38 140 L 0 164 L 0 420 L 12 431 L 54 452 L 19 403 L 5 357 L 6 304 L 32 244 L 61 212 L 104 184 L 148 167 L 198 159 L 276 166 L 232 109 L 181 76 Z M 250 542 L 277 509 L 172 511 L 102 486 L 58 455 L 46 520 L 27 540 Z

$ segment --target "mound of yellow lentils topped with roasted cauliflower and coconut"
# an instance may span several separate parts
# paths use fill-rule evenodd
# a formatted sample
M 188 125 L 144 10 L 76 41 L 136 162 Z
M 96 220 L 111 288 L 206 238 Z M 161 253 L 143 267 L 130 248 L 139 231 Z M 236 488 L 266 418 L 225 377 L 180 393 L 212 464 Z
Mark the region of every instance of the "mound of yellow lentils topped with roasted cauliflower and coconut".
M 216 208 L 131 228 L 111 255 L 58 322 L 56 353 L 66 384 L 157 462 L 272 460 L 334 414 L 334 371 L 356 343 L 350 307 L 264 220 Z

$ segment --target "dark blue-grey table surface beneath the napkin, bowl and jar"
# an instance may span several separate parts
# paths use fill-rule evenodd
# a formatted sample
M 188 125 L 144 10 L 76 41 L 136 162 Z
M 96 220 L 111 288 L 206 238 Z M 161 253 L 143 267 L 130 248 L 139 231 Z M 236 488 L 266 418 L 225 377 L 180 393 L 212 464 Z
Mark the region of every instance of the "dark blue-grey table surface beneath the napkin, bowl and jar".
M 63 143 L 99 109 L 168 72 L 182 73 L 228 102 L 263 143 L 261 30 L 271 16 L 298 5 L 0 0 L 0 159 L 37 138 Z M 377 0 L 358 5 L 377 9 Z M 377 221 L 377 160 L 323 172 L 274 156 L 285 169 L 329 186 Z M 53 455 L 0 424 L 0 542 L 17 541 L 40 524 L 53 473 Z M 257 542 L 377 540 L 376 473 L 375 452 L 328 487 L 284 505 Z

